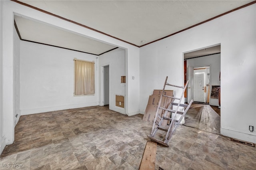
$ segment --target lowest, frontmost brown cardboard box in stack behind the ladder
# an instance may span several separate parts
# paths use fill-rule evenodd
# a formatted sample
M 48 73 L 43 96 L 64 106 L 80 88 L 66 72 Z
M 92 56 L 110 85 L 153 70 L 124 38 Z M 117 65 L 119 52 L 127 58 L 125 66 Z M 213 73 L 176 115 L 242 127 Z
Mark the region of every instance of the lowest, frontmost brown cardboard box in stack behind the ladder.
M 142 121 L 154 123 L 156 117 L 157 105 L 147 105 Z M 162 115 L 162 109 L 159 109 L 159 112 Z M 156 119 L 158 122 L 160 118 Z

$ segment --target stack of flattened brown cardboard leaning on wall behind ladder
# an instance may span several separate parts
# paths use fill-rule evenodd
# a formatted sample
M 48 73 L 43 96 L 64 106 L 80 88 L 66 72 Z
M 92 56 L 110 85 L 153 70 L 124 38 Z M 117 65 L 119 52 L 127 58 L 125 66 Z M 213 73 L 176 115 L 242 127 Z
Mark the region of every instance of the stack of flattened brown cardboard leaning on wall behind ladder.
M 144 116 L 143 116 L 143 119 L 142 119 L 143 121 L 154 123 L 158 103 L 159 103 L 160 97 L 161 97 L 161 93 L 162 93 L 162 90 L 154 90 L 153 94 L 149 96 L 148 105 L 146 107 L 146 110 L 145 110 L 145 113 L 144 113 Z M 172 90 L 165 90 L 164 95 L 173 96 L 173 91 Z M 172 102 L 171 98 L 162 97 L 162 101 L 161 101 L 160 106 L 167 109 L 167 107 L 170 105 L 171 102 Z M 158 114 L 161 115 L 161 117 L 163 117 L 164 110 L 159 109 Z M 166 115 L 166 117 L 170 117 L 169 112 Z M 157 118 L 157 121 L 159 122 L 160 118 Z M 162 126 L 166 126 L 167 123 L 168 123 L 168 121 L 164 120 L 164 122 L 162 123 Z

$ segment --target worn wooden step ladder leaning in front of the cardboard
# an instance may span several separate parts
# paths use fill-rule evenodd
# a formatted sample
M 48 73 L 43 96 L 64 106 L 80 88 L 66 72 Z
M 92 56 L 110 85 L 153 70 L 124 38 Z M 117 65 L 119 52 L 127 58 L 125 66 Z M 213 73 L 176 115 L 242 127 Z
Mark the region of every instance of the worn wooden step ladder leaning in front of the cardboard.
M 164 145 L 166 147 L 169 147 L 168 142 L 171 139 L 172 134 L 174 133 L 175 129 L 178 127 L 178 125 L 182 121 L 183 117 L 186 115 L 188 109 L 190 108 L 191 104 L 193 103 L 193 100 L 191 100 L 188 105 L 180 103 L 181 99 L 183 99 L 183 95 L 184 95 L 184 92 L 185 92 L 185 90 L 187 88 L 188 81 L 186 82 L 185 86 L 176 86 L 176 85 L 171 85 L 171 84 L 167 83 L 167 79 L 168 79 L 168 76 L 166 76 L 166 79 L 165 79 L 164 87 L 163 87 L 163 90 L 162 90 L 162 93 L 161 93 L 161 96 L 160 96 L 160 101 L 159 101 L 159 104 L 158 104 L 158 107 L 157 107 L 157 110 L 156 110 L 156 116 L 155 116 L 155 120 L 154 120 L 154 123 L 153 123 L 153 127 L 152 127 L 151 133 L 150 133 L 150 135 L 148 135 L 148 137 L 151 140 L 155 141 L 155 142 L 158 142 L 158 143 L 160 143 L 160 144 L 162 144 L 162 145 Z M 172 97 L 172 96 L 163 95 L 164 94 L 164 89 L 165 89 L 166 85 L 177 87 L 177 88 L 182 88 L 183 92 L 182 92 L 181 97 L 178 98 L 178 97 Z M 167 107 L 167 109 L 160 106 L 161 101 L 162 101 L 162 97 L 172 98 L 172 102 Z M 175 100 L 178 100 L 178 103 L 174 102 Z M 176 106 L 176 109 L 173 110 L 171 108 L 172 106 Z M 159 109 L 164 110 L 164 115 L 162 117 L 158 113 Z M 184 110 L 184 111 L 180 111 L 181 109 Z M 170 115 L 172 115 L 172 118 L 169 118 L 169 117 L 166 116 L 168 112 L 170 113 Z M 160 112 L 160 113 L 162 113 L 162 112 Z M 180 114 L 181 115 L 179 120 L 175 119 L 176 114 Z M 170 125 L 162 126 L 162 123 L 163 123 L 164 120 L 170 121 Z M 167 132 L 164 140 L 160 140 L 160 139 L 155 137 L 156 136 L 156 132 L 158 131 L 158 129 Z

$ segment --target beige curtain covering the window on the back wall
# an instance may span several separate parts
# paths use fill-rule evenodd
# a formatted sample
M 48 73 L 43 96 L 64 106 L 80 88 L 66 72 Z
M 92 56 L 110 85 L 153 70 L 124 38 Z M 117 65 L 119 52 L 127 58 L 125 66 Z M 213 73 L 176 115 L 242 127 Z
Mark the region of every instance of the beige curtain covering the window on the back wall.
M 75 60 L 75 71 L 75 95 L 94 94 L 94 63 Z

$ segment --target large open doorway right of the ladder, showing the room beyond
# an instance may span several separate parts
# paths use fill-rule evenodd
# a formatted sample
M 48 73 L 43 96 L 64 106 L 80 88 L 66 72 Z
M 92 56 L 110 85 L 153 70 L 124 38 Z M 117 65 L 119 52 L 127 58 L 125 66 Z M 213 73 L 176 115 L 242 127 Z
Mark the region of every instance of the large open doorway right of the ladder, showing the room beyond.
M 185 81 L 185 102 L 194 102 L 183 125 L 220 134 L 220 44 L 184 53 Z

